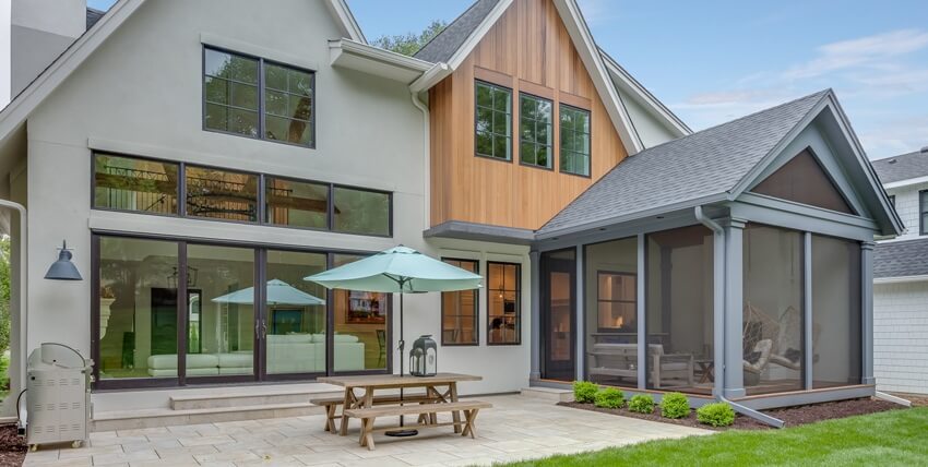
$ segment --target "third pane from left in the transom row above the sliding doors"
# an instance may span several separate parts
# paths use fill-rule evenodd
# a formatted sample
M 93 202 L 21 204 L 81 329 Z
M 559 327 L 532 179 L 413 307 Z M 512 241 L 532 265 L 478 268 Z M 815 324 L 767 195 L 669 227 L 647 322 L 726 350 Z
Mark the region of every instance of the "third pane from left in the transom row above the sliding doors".
M 279 226 L 329 228 L 329 184 L 264 178 L 266 217 Z

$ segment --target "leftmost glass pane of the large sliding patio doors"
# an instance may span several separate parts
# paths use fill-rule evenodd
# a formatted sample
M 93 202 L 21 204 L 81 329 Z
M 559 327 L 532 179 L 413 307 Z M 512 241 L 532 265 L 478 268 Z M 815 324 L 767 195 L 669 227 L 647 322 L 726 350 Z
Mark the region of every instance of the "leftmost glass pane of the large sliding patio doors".
M 170 241 L 99 238 L 100 380 L 177 378 L 177 260 Z

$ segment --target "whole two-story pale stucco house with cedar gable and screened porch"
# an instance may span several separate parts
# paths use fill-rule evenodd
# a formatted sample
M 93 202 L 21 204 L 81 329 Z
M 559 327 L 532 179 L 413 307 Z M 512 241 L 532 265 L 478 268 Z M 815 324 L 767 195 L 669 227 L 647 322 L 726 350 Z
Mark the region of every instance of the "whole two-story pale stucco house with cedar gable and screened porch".
M 406 358 L 393 297 L 304 278 L 402 243 L 485 278 L 406 299 L 466 393 L 875 394 L 872 242 L 902 227 L 830 89 L 694 133 L 574 0 L 479 0 L 415 57 L 344 0 L 94 20 L 0 112 L 14 388 L 58 342 L 97 428 L 299 412 L 265 403 Z M 62 240 L 83 280 L 44 278 Z

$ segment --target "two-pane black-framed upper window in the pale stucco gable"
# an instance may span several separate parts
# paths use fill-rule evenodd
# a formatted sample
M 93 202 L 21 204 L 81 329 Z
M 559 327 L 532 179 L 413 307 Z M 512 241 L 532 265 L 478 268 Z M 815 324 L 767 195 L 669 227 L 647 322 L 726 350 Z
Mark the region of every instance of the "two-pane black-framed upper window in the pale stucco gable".
M 203 48 L 203 128 L 316 146 L 316 73 Z

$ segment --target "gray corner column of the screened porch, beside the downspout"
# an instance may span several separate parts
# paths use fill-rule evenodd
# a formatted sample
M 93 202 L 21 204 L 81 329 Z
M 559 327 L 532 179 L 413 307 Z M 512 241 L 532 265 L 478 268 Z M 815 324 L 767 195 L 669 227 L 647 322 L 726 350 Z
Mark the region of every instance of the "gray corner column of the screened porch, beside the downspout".
M 742 256 L 743 219 L 730 218 L 722 223 L 725 228 L 725 397 L 745 396 L 745 372 L 742 362 L 743 340 L 743 277 Z M 714 287 L 718 287 L 715 284 Z M 716 372 L 716 374 L 718 374 Z

